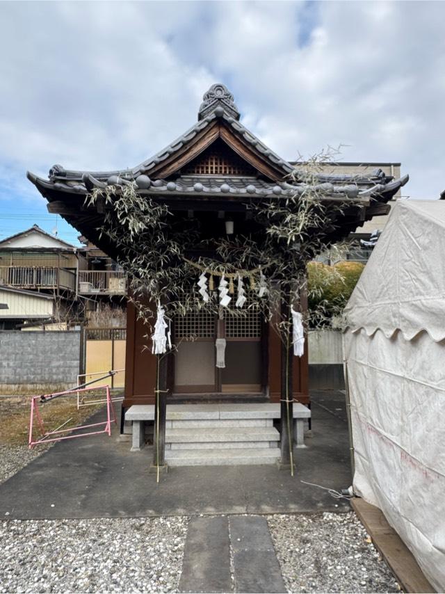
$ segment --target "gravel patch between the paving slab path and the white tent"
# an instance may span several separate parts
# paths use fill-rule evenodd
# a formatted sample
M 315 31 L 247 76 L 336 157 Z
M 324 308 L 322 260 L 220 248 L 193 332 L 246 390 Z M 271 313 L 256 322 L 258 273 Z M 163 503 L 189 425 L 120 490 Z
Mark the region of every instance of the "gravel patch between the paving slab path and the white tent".
M 399 592 L 355 513 L 268 517 L 289 592 Z

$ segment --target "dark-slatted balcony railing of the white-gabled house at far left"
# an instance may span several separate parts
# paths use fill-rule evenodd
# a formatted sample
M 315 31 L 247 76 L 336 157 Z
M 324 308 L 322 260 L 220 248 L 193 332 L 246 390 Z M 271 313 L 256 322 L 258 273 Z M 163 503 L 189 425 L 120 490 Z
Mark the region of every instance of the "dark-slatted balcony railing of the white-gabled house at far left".
M 76 274 L 56 266 L 0 266 L 0 284 L 16 289 L 76 291 Z

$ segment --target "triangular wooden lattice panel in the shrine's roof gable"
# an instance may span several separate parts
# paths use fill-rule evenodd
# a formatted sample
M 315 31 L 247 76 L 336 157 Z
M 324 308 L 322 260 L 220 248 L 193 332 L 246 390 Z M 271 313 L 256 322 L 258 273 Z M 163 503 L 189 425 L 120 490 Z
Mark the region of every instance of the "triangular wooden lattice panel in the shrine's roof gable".
M 223 143 L 214 143 L 204 153 L 188 163 L 182 171 L 186 175 L 248 175 L 256 170 Z

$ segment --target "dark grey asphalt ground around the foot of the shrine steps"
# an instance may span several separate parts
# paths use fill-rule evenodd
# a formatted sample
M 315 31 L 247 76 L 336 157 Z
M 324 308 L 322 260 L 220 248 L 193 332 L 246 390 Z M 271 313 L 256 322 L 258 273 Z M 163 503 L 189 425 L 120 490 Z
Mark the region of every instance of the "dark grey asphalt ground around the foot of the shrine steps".
M 0 517 L 61 519 L 348 511 L 325 488 L 351 484 L 342 392 L 312 394 L 312 437 L 295 450 L 296 472 L 275 466 L 172 468 L 149 474 L 152 449 L 131 452 L 114 427 L 58 442 L 0 485 Z M 99 411 L 94 418 L 104 416 Z M 306 481 L 306 483 L 302 483 Z

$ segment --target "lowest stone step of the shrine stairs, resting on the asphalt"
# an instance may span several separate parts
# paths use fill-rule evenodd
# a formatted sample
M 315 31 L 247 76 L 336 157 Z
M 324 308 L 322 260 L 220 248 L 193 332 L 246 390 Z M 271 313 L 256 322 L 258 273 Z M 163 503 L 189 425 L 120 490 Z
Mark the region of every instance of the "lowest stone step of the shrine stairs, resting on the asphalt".
M 165 460 L 170 466 L 273 464 L 280 460 L 280 449 L 170 449 L 165 450 Z

